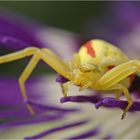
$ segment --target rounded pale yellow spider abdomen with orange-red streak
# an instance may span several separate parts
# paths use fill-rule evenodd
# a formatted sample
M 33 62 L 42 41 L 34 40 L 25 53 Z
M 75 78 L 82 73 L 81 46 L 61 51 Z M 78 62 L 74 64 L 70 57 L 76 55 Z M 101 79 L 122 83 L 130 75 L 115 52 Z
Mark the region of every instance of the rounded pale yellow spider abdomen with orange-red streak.
M 128 61 L 128 57 L 116 46 L 99 39 L 90 40 L 79 50 L 81 64 L 116 66 Z

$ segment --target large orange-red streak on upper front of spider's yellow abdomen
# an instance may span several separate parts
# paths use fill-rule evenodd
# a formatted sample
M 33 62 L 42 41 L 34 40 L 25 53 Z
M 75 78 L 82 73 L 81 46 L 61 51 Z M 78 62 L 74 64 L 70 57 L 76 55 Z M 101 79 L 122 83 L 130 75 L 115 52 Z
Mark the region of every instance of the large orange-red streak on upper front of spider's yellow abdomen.
M 92 46 L 92 43 L 89 41 L 87 43 L 84 44 L 84 47 L 87 48 L 87 53 L 92 56 L 92 57 L 95 57 L 96 54 L 95 54 L 95 51 L 93 49 L 93 46 Z

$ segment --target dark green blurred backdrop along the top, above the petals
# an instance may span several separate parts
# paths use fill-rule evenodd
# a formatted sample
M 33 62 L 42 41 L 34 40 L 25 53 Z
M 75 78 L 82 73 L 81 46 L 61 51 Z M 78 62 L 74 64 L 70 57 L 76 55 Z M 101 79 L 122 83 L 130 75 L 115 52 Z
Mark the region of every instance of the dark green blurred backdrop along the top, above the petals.
M 110 2 L 0 2 L 1 8 L 13 10 L 46 25 L 85 36 L 85 24 L 104 14 Z

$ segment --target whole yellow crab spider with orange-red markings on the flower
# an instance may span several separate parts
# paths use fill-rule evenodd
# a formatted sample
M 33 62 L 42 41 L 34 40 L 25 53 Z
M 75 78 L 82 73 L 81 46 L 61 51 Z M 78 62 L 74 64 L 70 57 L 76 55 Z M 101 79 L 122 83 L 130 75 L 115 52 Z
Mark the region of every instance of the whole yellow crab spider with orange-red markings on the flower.
M 88 41 L 66 63 L 50 49 L 28 47 L 1 56 L 0 64 L 31 55 L 33 56 L 32 59 L 19 78 L 21 93 L 25 100 L 28 97 L 24 84 L 39 60 L 43 60 L 58 74 L 69 80 L 61 84 L 64 96 L 67 96 L 70 83 L 80 86 L 80 90 L 91 88 L 102 91 L 102 93 L 104 93 L 103 91 L 114 91 L 116 98 L 123 94 L 128 101 L 128 105 L 123 112 L 122 119 L 133 104 L 128 87 L 131 85 L 133 75 L 140 73 L 140 61 L 130 60 L 120 49 L 106 41 L 99 39 Z M 28 103 L 27 108 L 31 114 L 34 114 Z

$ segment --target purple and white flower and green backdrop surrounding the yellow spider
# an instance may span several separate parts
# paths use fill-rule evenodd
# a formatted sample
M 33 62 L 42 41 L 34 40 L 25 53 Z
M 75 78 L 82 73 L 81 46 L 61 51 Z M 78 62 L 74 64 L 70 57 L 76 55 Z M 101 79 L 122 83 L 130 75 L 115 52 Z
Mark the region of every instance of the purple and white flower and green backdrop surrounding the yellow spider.
M 140 59 L 140 3 L 0 2 L 0 55 L 36 46 L 67 61 L 83 42 L 94 38 Z M 140 138 L 139 76 L 130 87 L 134 104 L 121 120 L 125 98 L 79 92 L 76 86 L 70 86 L 69 97 L 62 98 L 57 73 L 40 62 L 26 82 L 36 112 L 32 116 L 18 85 L 29 59 L 0 65 L 0 139 Z

